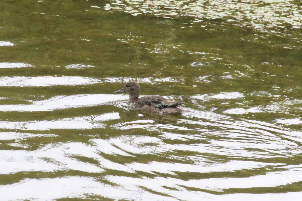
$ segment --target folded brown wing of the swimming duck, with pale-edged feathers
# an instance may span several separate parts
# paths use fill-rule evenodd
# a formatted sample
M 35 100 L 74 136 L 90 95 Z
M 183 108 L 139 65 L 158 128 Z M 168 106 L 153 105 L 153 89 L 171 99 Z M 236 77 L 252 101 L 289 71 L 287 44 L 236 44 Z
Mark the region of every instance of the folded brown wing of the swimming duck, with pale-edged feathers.
M 149 105 L 155 108 L 167 108 L 175 105 L 183 105 L 184 102 L 177 102 L 172 99 L 166 99 L 162 96 L 144 96 L 138 100 L 139 105 Z

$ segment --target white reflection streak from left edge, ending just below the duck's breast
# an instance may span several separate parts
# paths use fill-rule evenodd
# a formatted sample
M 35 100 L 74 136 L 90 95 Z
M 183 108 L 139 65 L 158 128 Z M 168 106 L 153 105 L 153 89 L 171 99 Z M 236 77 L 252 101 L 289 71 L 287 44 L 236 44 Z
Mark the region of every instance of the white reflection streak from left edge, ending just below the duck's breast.
M 52 121 L 0 121 L 0 128 L 18 130 L 92 129 L 104 127 L 104 124 L 99 121 L 118 118 L 120 118 L 118 113 L 112 112 L 97 116 L 64 118 Z

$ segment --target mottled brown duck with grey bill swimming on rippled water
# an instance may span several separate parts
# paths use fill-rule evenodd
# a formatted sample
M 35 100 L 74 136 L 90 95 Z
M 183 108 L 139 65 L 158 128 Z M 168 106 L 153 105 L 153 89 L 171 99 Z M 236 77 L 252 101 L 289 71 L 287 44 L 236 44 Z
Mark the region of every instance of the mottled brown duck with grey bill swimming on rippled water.
M 141 109 L 151 112 L 159 112 L 160 114 L 181 114 L 188 112 L 179 105 L 184 105 L 184 102 L 177 102 L 172 99 L 167 99 L 162 96 L 140 96 L 140 85 L 137 82 L 127 82 L 124 87 L 114 93 L 129 94 L 127 104 L 134 109 Z

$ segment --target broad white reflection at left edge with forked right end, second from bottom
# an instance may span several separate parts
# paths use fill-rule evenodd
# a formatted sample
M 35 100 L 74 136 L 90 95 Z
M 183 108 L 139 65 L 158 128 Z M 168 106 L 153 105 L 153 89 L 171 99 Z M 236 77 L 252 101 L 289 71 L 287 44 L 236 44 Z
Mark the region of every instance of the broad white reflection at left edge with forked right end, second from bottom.
M 103 171 L 102 168 L 96 165 L 73 159 L 70 157 L 71 155 L 99 158 L 99 155 L 95 153 L 93 147 L 83 143 L 65 143 L 57 147 L 47 145 L 42 149 L 34 151 L 0 150 L 0 164 L 2 164 L 0 173 L 10 174 L 30 171 L 53 172 L 59 170 L 66 171 L 69 169 L 84 172 Z

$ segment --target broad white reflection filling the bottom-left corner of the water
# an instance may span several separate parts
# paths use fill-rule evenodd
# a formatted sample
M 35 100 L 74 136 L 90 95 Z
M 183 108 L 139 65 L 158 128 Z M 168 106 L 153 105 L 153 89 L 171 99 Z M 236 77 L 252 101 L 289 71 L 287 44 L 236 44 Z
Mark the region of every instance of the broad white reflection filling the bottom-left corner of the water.
M 11 185 L 0 186 L 0 195 L 3 200 L 85 198 L 89 194 L 114 200 L 178 201 L 178 199 L 172 197 L 156 195 L 145 190 L 141 191 L 138 187 L 125 189 L 111 186 L 96 181 L 94 177 L 26 179 Z

